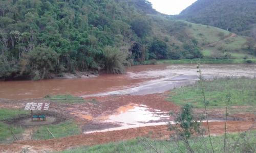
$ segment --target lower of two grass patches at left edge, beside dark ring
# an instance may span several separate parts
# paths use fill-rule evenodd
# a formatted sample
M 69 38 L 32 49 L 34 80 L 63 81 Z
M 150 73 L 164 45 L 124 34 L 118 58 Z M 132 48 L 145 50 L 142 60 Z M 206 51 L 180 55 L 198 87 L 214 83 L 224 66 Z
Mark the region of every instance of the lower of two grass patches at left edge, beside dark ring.
M 17 136 L 18 134 L 21 134 L 24 132 L 24 128 L 15 127 L 15 126 L 0 122 L 0 142 L 1 143 L 12 142 L 14 140 L 12 137 L 11 131 Z

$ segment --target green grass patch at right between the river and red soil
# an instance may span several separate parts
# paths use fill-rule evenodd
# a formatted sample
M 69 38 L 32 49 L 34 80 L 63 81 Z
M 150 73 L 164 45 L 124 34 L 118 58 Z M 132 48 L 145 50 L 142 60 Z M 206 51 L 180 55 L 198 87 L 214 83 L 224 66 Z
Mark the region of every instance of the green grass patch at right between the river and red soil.
M 256 79 L 217 79 L 203 83 L 206 100 L 211 108 L 224 108 L 226 96 L 231 94 L 231 106 L 256 106 Z M 177 88 L 170 92 L 169 101 L 179 106 L 186 103 L 196 108 L 203 108 L 202 89 L 199 83 Z

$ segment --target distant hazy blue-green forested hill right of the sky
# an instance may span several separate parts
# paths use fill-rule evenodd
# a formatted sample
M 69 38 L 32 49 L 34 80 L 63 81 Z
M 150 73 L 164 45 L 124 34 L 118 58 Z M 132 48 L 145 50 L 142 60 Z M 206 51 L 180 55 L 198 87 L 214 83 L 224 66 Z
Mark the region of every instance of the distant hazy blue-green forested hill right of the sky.
M 255 0 L 198 0 L 177 17 L 256 37 Z

